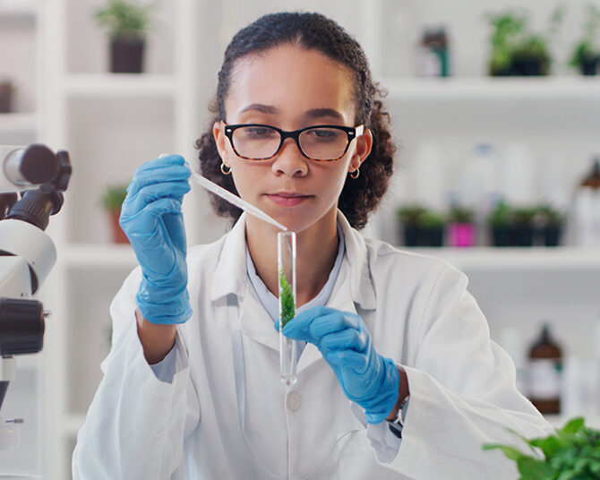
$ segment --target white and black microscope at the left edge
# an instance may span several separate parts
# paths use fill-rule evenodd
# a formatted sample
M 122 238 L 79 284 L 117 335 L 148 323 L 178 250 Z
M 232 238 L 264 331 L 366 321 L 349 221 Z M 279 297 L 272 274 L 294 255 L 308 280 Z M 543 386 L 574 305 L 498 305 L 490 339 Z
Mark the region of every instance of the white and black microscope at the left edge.
M 56 262 L 45 233 L 63 206 L 71 177 L 69 154 L 34 143 L 0 145 L 0 409 L 15 378 L 15 356 L 43 347 L 43 305 L 31 298 Z M 0 450 L 18 447 L 22 419 L 0 416 Z

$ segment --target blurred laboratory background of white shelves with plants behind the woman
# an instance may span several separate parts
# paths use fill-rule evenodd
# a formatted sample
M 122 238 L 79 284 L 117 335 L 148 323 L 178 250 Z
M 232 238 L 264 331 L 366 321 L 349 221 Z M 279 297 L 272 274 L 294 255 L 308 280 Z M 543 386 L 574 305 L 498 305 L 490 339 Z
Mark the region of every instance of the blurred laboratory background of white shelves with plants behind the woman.
M 553 424 L 600 427 L 600 1 L 129 3 L 143 41 L 119 45 L 108 0 L 0 0 L 0 144 L 44 143 L 73 165 L 36 296 L 44 347 L 15 357 L 0 410 L 23 419 L 0 473 L 71 477 L 108 306 L 136 265 L 114 223 L 124 186 L 162 153 L 194 165 L 225 46 L 279 10 L 339 21 L 387 91 L 400 148 L 364 236 L 465 271 L 519 389 Z M 184 220 L 188 244 L 228 227 L 197 185 Z

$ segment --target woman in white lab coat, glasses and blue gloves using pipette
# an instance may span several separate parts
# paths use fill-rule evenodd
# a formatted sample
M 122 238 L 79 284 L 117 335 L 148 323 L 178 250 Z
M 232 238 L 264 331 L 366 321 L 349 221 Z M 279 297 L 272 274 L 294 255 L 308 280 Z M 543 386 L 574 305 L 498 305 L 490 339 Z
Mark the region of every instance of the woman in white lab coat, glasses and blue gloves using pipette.
M 139 167 L 121 225 L 140 266 L 73 453 L 77 479 L 506 479 L 485 441 L 547 433 L 448 263 L 364 240 L 394 146 L 363 50 L 316 13 L 240 30 L 201 172 L 297 234 L 296 385 L 279 380 L 277 228 L 236 220 L 186 254 L 190 171 Z M 326 125 L 326 126 L 324 126 Z

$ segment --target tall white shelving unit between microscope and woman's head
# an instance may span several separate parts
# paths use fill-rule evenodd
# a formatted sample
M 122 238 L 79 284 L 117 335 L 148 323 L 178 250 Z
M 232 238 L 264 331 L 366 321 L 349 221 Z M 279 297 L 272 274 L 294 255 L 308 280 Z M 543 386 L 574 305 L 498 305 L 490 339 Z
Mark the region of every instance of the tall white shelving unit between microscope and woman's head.
M 60 480 L 71 475 L 76 435 L 101 378 L 99 363 L 110 343 L 108 304 L 136 264 L 131 246 L 110 244 L 100 195 L 107 184 L 127 184 L 135 167 L 161 153 L 192 158 L 198 129 L 193 59 L 200 5 L 158 4 L 157 14 L 167 21 L 150 30 L 141 74 L 106 73 L 80 55 L 81 48 L 107 55 L 106 39 L 90 20 L 97 6 L 55 0 L 45 16 L 52 59 L 46 107 L 54 120 L 47 142 L 68 150 L 73 163 L 64 211 L 51 224 L 58 261 L 44 292 L 53 311 L 44 352 L 44 473 Z M 197 229 L 193 219 L 187 223 L 190 232 Z

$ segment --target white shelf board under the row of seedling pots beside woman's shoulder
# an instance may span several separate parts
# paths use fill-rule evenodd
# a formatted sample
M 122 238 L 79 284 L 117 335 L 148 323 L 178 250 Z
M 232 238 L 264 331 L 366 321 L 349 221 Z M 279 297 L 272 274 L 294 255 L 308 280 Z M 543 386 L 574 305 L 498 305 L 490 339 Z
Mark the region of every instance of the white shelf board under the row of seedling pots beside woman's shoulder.
M 400 247 L 405 249 L 405 247 Z M 600 248 L 410 248 L 465 270 L 600 270 Z

